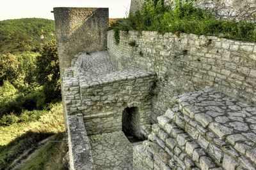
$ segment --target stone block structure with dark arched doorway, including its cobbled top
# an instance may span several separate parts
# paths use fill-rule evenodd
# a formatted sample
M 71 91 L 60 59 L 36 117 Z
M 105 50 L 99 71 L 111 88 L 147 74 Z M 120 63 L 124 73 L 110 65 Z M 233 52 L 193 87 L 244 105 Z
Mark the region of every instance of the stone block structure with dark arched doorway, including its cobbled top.
M 97 66 L 92 69 L 96 69 L 98 74 L 84 71 L 81 64 L 87 62 L 92 66 L 92 63 L 83 59 L 100 59 L 99 53 L 95 56 L 80 55 L 73 60 L 72 67 L 66 69 L 63 99 L 67 117 L 83 114 L 87 134 L 101 134 L 122 131 L 123 111 L 127 107 L 138 107 L 136 116 L 139 119 L 134 122 L 134 136 L 144 138 L 150 128 L 150 92 L 154 84 L 154 73 L 140 69 L 104 73 Z M 106 60 L 101 60 L 100 65 L 104 64 L 108 66 Z

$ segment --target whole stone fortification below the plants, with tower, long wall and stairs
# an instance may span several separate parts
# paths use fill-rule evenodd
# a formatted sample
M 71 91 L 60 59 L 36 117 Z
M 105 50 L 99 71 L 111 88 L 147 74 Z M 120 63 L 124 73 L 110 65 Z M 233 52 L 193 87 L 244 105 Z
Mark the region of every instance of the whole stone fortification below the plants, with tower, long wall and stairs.
M 256 43 L 129 31 L 116 45 L 106 8 L 54 17 L 70 169 L 255 169 Z M 147 138 L 133 155 L 125 131 Z

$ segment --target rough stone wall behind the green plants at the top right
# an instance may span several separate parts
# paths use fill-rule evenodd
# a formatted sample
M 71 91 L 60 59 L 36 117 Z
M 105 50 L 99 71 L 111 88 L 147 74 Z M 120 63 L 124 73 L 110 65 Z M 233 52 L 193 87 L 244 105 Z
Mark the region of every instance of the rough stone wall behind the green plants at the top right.
M 132 0 L 130 12 L 134 13 L 140 9 L 143 0 Z M 181 3 L 186 1 L 182 0 Z M 175 6 L 175 0 L 164 0 L 166 5 Z M 193 6 L 210 11 L 216 17 L 226 20 L 256 20 L 255 0 L 196 0 L 192 1 Z

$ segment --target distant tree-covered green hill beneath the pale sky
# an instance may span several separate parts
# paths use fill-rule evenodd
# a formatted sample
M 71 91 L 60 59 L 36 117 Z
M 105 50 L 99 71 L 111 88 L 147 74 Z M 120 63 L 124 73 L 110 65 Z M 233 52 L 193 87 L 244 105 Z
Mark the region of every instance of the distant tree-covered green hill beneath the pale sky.
M 38 52 L 44 43 L 54 38 L 54 21 L 42 18 L 3 20 L 0 32 L 0 53 Z

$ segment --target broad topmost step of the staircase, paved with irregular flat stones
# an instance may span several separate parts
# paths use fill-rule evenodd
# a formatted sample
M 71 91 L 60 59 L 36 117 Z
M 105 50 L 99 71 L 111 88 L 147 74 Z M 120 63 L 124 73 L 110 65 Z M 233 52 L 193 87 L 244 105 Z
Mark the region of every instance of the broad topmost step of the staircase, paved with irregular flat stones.
M 183 115 L 223 139 L 256 167 L 256 107 L 212 89 L 184 94 L 176 101 Z

